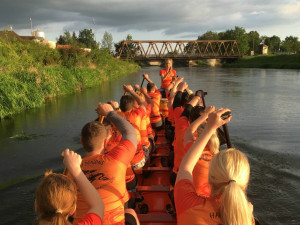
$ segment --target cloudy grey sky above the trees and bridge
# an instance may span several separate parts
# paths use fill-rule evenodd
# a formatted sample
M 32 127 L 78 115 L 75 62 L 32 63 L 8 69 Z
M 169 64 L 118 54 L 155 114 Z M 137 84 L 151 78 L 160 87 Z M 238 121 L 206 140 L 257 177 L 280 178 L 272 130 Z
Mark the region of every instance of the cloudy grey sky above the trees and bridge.
M 31 18 L 31 20 L 30 20 Z M 242 27 L 246 32 L 300 40 L 300 0 L 0 0 L 0 30 L 33 30 L 56 41 L 65 31 L 93 29 L 101 42 L 195 40 L 207 31 Z

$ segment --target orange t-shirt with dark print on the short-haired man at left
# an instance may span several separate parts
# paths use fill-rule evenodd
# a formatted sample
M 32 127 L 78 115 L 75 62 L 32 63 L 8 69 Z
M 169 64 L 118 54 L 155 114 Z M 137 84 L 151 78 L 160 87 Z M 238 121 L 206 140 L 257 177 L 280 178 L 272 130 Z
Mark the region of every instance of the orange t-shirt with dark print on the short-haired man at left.
M 135 154 L 134 145 L 122 140 L 107 154 L 97 154 L 82 159 L 81 169 L 97 189 L 104 203 L 103 224 L 124 224 L 124 203 L 126 196 L 125 173 L 127 165 Z M 72 176 L 67 173 L 67 176 Z M 73 178 L 72 178 L 73 179 Z M 88 211 L 88 206 L 79 189 L 74 223 Z

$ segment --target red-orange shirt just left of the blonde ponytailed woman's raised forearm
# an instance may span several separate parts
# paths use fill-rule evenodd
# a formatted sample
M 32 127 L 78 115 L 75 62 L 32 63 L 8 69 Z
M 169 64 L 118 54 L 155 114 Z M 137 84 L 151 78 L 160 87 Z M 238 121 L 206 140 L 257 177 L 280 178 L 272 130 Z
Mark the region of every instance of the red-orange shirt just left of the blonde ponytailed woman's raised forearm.
M 177 109 L 177 108 L 176 108 Z M 190 122 L 187 117 L 180 117 L 175 124 L 175 138 L 174 138 L 174 166 L 173 171 L 178 172 L 180 163 L 185 155 L 184 151 L 184 135 L 185 130 L 190 126 Z

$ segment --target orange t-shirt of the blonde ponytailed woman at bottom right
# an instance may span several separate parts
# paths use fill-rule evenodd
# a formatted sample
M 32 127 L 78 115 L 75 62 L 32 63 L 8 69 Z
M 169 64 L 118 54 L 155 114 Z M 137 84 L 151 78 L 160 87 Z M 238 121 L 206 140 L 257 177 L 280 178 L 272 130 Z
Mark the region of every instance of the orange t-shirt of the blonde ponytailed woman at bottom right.
M 198 196 L 190 180 L 183 179 L 176 183 L 174 198 L 178 225 L 222 224 L 220 200 Z

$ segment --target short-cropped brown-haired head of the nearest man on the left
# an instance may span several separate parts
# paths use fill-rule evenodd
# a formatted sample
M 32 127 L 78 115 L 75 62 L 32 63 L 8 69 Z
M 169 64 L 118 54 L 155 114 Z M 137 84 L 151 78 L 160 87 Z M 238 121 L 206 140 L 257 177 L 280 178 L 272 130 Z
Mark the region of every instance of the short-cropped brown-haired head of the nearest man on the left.
M 81 129 L 81 140 L 85 151 L 92 152 L 100 147 L 108 137 L 110 126 L 105 126 L 97 121 L 89 122 Z

